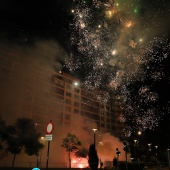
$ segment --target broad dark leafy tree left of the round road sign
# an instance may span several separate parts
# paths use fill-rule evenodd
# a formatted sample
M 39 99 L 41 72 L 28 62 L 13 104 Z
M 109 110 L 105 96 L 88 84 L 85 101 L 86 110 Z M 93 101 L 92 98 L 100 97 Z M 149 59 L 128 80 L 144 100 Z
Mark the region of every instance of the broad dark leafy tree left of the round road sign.
M 40 134 L 36 133 L 35 123 L 29 118 L 18 118 L 14 125 L 9 125 L 6 128 L 6 150 L 14 155 L 12 167 L 16 155 L 22 149 L 28 155 L 38 155 L 39 151 L 43 149 L 44 145 L 39 142 Z

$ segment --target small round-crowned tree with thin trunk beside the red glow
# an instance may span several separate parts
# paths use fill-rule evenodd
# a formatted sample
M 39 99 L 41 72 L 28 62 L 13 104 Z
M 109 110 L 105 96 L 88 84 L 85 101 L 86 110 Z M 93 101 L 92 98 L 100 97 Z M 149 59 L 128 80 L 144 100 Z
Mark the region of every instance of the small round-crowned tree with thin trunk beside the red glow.
M 63 139 L 61 146 L 66 149 L 66 152 L 68 152 L 69 168 L 71 168 L 70 153 L 78 151 L 78 147 L 81 146 L 81 142 L 76 135 L 68 133 L 66 138 Z

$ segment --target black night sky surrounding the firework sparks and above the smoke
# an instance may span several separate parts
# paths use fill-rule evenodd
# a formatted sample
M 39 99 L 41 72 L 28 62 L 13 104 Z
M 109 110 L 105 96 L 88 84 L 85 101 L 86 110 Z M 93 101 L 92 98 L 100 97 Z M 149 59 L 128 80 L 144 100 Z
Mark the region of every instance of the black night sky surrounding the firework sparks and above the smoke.
M 103 2 L 107 4 L 107 1 Z M 126 4 L 125 0 L 120 0 L 117 2 Z M 130 2 L 133 3 L 128 5 L 128 9 L 138 8 L 138 16 L 136 17 L 138 21 L 135 18 L 135 22 L 138 23 L 139 26 L 137 27 L 137 30 L 134 30 L 134 32 L 137 31 L 138 35 L 140 33 L 143 34 L 144 37 L 148 38 L 148 42 L 150 42 L 153 37 L 170 38 L 169 0 L 130 0 Z M 87 1 L 87 3 L 90 4 L 90 0 Z M 76 51 L 74 49 L 75 46 L 71 45 L 70 40 L 72 32 L 74 32 L 76 29 L 71 29 L 70 23 L 73 23 L 74 18 L 73 14 L 71 13 L 71 9 L 76 8 L 77 4 L 78 1 L 76 0 L 74 2 L 72 2 L 71 0 L 0 0 L 0 42 L 15 44 L 22 47 L 34 46 L 37 41 L 52 40 L 60 44 L 60 46 L 64 48 L 65 52 L 69 56 L 71 52 Z M 131 17 L 131 14 L 129 11 L 126 11 L 121 16 L 123 19 L 128 16 L 129 19 L 129 17 Z M 126 21 L 125 19 L 123 19 L 119 17 L 120 22 Z M 112 27 L 114 27 L 114 25 Z M 121 36 L 121 30 L 117 32 L 117 36 Z M 131 34 L 131 36 L 135 37 L 133 33 Z M 131 46 L 132 45 L 135 45 L 135 43 L 131 44 Z M 77 53 L 80 54 L 80 51 Z M 160 55 L 162 54 L 160 51 L 159 53 Z M 155 67 L 155 63 L 150 61 L 150 68 L 152 68 L 152 66 Z M 152 87 L 153 89 L 156 89 L 158 91 L 158 102 L 160 104 L 159 106 L 165 108 L 168 104 L 170 105 L 169 53 L 166 60 L 161 62 L 161 66 L 163 66 L 164 68 L 164 78 L 156 85 L 152 85 L 149 87 Z M 82 67 L 84 67 L 84 65 Z M 66 70 L 68 71 L 68 69 Z M 77 70 L 77 76 L 79 78 L 81 78 L 81 71 L 81 69 L 79 71 Z M 138 83 L 140 84 L 141 80 L 138 80 Z M 149 84 L 150 80 L 146 79 L 145 83 Z M 127 86 L 129 87 L 129 84 Z M 136 83 L 132 83 L 132 87 L 134 86 L 138 86 L 138 84 L 136 85 Z M 143 85 L 143 87 L 145 87 L 145 85 Z M 139 100 L 138 97 L 132 98 L 133 100 Z M 152 138 L 154 140 L 157 140 L 157 143 L 160 144 L 163 141 L 163 138 L 170 138 L 170 116 L 168 111 L 168 109 L 165 109 L 166 113 L 164 114 L 163 118 L 161 118 L 163 120 L 160 120 L 159 126 L 154 128 L 155 131 L 153 131 L 153 129 L 147 130 L 149 134 L 150 132 L 151 134 L 153 134 L 152 136 L 148 135 L 148 141 L 151 140 L 149 138 Z M 158 136 L 155 136 L 155 134 L 159 134 L 159 139 Z M 167 146 L 169 144 L 169 142 L 167 141 L 164 141 L 164 143 Z

